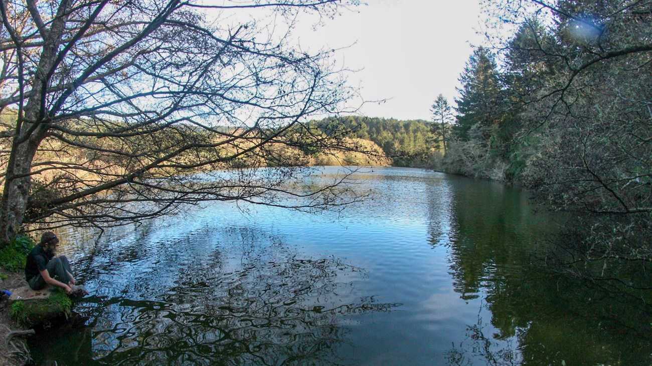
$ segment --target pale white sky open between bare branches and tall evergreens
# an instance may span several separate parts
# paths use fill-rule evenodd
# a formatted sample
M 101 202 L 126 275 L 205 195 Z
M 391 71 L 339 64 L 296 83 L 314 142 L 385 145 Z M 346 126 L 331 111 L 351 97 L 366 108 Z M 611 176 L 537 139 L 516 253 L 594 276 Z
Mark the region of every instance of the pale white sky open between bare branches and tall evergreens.
M 338 61 L 363 69 L 351 76 L 369 117 L 430 119 L 437 94 L 456 96 L 458 77 L 479 44 L 478 0 L 367 0 L 316 30 L 300 27 L 303 48 L 340 48 Z M 301 24 L 300 24 L 301 25 Z M 355 44 L 354 44 L 355 43 Z

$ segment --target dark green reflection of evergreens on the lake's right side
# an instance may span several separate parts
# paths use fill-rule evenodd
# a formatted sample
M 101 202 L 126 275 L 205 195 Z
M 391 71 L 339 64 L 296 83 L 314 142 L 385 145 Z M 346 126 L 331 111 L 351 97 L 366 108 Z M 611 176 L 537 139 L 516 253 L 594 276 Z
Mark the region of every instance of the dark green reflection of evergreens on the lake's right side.
M 456 183 L 449 273 L 454 291 L 481 303 L 490 322 L 467 326 L 449 364 L 649 364 L 649 303 L 550 272 L 543 263 L 550 216 L 535 215 L 516 191 Z M 431 243 L 441 245 L 440 236 Z

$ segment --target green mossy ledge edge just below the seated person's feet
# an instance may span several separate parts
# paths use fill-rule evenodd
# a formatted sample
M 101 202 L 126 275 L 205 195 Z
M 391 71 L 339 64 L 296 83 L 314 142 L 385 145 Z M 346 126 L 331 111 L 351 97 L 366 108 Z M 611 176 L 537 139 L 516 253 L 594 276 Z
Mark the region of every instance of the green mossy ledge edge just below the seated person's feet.
M 61 289 L 54 289 L 43 300 L 18 300 L 11 305 L 10 315 L 18 324 L 31 327 L 46 320 L 70 315 L 72 300 Z

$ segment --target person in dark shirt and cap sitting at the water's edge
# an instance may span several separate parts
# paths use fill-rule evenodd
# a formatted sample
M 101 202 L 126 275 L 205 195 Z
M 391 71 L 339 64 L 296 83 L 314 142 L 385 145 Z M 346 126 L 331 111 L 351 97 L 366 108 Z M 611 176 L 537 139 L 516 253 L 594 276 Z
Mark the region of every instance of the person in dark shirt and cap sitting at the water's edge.
M 65 255 L 55 256 L 59 238 L 52 231 L 41 235 L 41 240 L 27 255 L 25 262 L 25 279 L 32 290 L 42 290 L 46 285 L 61 287 L 67 294 L 85 294 L 88 292 L 75 285 L 70 263 Z

